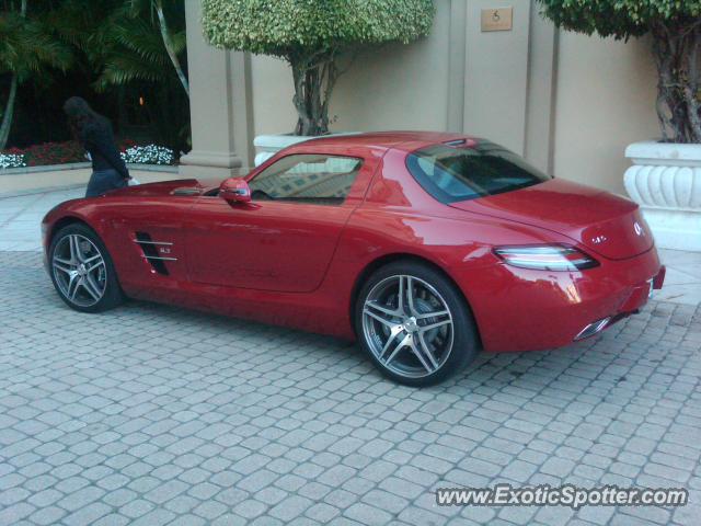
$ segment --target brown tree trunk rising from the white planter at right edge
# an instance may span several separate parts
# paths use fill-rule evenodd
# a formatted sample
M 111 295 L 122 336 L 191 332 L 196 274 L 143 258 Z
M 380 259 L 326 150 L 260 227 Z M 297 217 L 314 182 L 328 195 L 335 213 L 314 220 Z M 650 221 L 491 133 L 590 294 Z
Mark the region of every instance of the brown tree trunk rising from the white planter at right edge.
M 657 117 L 666 142 L 701 142 L 701 22 L 652 28 Z

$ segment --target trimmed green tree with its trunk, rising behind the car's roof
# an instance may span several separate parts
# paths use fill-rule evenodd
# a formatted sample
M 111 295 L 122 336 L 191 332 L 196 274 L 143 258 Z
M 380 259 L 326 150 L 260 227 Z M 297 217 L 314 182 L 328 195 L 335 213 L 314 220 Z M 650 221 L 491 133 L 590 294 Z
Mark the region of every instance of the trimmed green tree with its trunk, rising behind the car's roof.
M 212 45 L 289 62 L 298 135 L 329 132 L 342 58 L 350 60 L 361 46 L 425 36 L 433 16 L 432 0 L 203 0 L 203 25 Z

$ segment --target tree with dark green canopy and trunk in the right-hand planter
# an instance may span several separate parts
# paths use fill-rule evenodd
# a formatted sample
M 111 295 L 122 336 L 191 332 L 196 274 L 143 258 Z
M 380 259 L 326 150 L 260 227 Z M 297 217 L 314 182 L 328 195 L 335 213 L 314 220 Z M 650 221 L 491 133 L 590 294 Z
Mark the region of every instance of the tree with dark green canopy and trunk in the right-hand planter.
M 652 35 L 664 141 L 701 142 L 701 0 L 539 0 L 565 30 L 617 39 Z

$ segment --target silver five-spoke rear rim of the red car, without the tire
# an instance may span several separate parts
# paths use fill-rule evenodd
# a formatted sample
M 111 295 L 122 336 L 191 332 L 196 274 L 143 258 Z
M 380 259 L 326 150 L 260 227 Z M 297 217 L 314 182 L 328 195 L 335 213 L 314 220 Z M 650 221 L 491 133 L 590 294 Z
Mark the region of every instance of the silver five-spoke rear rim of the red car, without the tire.
M 452 351 L 450 309 L 415 276 L 390 276 L 372 287 L 363 307 L 363 332 L 378 362 L 406 378 L 432 375 Z

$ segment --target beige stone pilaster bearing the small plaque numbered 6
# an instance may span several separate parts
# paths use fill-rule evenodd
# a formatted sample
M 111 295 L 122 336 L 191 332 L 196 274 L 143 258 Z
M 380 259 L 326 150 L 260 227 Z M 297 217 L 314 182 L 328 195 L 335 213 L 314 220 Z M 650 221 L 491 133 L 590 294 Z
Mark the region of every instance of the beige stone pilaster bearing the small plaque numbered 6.
M 449 5 L 447 129 L 489 137 L 552 172 L 554 25 L 540 15 L 536 0 Z M 497 8 L 512 8 L 512 27 L 483 31 L 482 11 Z

